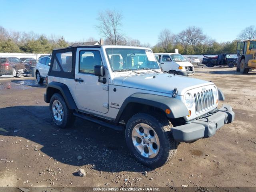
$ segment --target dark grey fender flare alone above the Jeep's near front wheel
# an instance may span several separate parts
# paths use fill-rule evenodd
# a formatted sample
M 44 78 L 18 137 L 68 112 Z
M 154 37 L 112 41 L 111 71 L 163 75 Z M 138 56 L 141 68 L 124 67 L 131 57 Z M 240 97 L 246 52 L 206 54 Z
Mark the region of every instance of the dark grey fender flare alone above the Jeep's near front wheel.
M 189 115 L 185 104 L 178 99 L 146 93 L 135 93 L 124 100 L 116 116 L 116 122 L 119 121 L 123 111 L 129 103 L 145 104 L 148 106 L 160 108 L 163 111 L 170 109 L 171 113 L 166 114 L 168 118 L 180 118 Z

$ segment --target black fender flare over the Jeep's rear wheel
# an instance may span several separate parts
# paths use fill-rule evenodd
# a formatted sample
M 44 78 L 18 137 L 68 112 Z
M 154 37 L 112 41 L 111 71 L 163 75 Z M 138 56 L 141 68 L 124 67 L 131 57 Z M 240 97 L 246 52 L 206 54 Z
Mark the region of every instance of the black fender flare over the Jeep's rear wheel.
M 52 92 L 51 88 L 57 89 L 62 93 L 62 96 L 70 109 L 77 109 L 76 103 L 70 93 L 68 86 L 59 82 L 50 82 L 46 87 L 46 93 L 44 94 L 44 101 L 50 103 L 50 99 L 55 92 Z

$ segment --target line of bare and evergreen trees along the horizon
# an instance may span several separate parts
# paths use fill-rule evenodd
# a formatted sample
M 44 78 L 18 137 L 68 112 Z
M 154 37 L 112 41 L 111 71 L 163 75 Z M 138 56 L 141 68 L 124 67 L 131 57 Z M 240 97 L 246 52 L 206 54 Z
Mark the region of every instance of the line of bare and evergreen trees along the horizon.
M 158 42 L 151 46 L 150 43 L 141 43 L 140 40 L 126 36 L 122 32 L 122 13 L 116 10 L 105 10 L 98 13 L 96 30 L 104 36 L 104 44 L 128 45 L 152 48 L 153 52 L 174 52 L 180 54 L 236 54 L 236 42 L 239 40 L 254 39 L 256 36 L 255 26 L 249 26 L 238 34 L 233 41 L 217 42 L 204 34 L 202 28 L 189 26 L 178 34 L 173 34 L 166 28 L 160 31 Z M 96 41 L 89 37 L 82 42 Z M 53 48 L 62 48 L 76 42 L 68 42 L 63 36 L 45 36 L 34 32 L 8 31 L 0 26 L 0 52 L 24 52 L 24 53 L 50 53 Z

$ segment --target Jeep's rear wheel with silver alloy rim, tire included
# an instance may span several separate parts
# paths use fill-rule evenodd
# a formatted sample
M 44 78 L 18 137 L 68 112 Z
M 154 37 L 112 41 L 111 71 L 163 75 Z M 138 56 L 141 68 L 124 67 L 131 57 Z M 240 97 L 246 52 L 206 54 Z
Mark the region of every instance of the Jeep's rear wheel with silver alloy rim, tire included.
M 62 95 L 58 93 L 53 94 L 50 99 L 50 115 L 60 128 L 70 128 L 76 119 Z

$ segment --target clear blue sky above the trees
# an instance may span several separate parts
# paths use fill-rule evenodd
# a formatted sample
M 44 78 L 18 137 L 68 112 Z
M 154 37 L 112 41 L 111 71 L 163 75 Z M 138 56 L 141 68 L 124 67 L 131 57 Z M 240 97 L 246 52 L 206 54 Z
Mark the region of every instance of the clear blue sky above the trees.
M 202 28 L 218 42 L 234 40 L 256 25 L 256 0 L 0 0 L 0 25 L 8 30 L 64 36 L 68 41 L 100 39 L 95 25 L 99 11 L 122 12 L 122 32 L 154 45 L 164 28 L 178 33 L 188 26 Z M 248 11 L 246 6 L 248 6 Z

